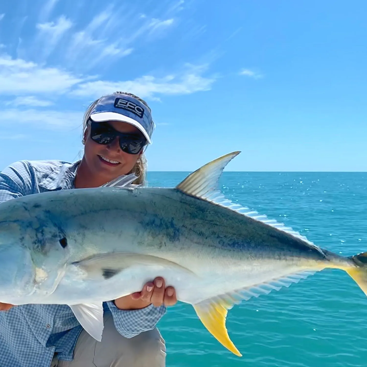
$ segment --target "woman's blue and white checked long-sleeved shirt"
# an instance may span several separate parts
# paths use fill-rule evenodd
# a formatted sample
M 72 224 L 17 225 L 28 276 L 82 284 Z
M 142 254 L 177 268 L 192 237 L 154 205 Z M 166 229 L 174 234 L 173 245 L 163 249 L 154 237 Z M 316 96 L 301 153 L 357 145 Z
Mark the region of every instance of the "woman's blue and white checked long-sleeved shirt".
M 0 203 L 16 197 L 74 188 L 80 161 L 19 161 L 0 173 Z M 164 306 L 120 310 L 112 301 L 103 303 L 111 312 L 116 330 L 126 338 L 152 330 L 166 312 Z M 0 311 L 0 367 L 50 367 L 54 353 L 70 361 L 82 327 L 66 305 L 21 305 Z

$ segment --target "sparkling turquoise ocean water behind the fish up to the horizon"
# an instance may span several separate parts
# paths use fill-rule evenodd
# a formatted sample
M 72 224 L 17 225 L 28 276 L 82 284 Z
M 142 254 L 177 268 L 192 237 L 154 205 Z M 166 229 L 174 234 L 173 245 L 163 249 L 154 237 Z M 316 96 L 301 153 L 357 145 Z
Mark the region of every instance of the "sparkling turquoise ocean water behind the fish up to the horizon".
M 148 184 L 172 187 L 185 177 L 150 172 Z M 345 256 L 367 251 L 366 173 L 224 172 L 219 186 L 320 247 Z M 367 366 L 367 297 L 342 270 L 243 301 L 226 324 L 243 357 L 220 345 L 190 305 L 169 308 L 159 323 L 167 366 Z

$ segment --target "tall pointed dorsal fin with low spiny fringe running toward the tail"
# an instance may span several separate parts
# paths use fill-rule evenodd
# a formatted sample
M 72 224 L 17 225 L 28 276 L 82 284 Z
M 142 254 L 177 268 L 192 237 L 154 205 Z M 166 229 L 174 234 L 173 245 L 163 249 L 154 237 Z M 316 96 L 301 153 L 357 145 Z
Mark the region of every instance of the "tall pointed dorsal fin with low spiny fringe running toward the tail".
M 318 246 L 309 241 L 305 236 L 302 236 L 299 232 L 294 231 L 292 228 L 286 227 L 283 223 L 277 222 L 274 219 L 269 219 L 266 215 L 260 215 L 257 211 L 232 203 L 232 201 L 224 197 L 223 193 L 218 188 L 219 177 L 221 176 L 224 167 L 239 153 L 240 152 L 229 153 L 205 164 L 179 183 L 179 185 L 176 186 L 176 189 L 187 195 L 210 201 L 213 204 L 231 209 L 245 215 L 246 217 L 250 217 L 255 221 L 262 222 L 266 225 L 272 226 L 273 228 L 286 232 L 305 241 L 322 252 Z

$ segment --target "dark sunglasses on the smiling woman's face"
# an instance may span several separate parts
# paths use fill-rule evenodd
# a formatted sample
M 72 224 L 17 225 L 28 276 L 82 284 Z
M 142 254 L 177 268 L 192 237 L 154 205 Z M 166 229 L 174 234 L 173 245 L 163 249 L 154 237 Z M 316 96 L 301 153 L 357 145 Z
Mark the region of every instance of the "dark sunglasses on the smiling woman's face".
M 118 137 L 121 150 L 128 154 L 138 154 L 146 145 L 146 139 L 141 134 L 120 132 L 105 122 L 89 120 L 88 124 L 91 127 L 90 137 L 98 144 L 110 144 Z

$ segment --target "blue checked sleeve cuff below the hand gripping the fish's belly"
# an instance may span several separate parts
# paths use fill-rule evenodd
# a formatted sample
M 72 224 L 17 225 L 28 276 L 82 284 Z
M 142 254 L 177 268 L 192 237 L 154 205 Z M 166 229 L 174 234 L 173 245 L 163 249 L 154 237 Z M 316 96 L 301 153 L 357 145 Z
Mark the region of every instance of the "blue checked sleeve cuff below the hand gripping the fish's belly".
M 116 330 L 125 338 L 154 329 L 167 310 L 166 306 L 153 305 L 139 310 L 120 310 L 112 301 L 106 303 L 112 313 Z

